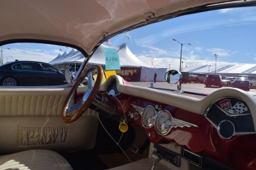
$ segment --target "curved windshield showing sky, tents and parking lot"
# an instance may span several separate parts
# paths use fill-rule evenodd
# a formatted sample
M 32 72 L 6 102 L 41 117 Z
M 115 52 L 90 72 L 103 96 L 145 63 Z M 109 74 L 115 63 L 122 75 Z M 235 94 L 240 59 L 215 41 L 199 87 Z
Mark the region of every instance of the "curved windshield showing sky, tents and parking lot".
M 106 64 L 105 71 L 114 71 L 132 85 L 159 90 L 177 90 L 179 82 L 164 80 L 174 69 L 182 73 L 181 90 L 209 94 L 223 88 L 220 80 L 205 84 L 209 74 L 256 75 L 255 16 L 255 7 L 246 7 L 163 20 L 108 39 L 90 62 L 104 53 L 98 63 Z

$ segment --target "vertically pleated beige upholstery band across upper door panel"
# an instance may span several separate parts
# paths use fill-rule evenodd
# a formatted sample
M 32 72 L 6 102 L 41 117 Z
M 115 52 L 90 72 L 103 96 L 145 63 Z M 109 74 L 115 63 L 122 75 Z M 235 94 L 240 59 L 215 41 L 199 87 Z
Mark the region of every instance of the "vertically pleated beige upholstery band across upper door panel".
M 0 96 L 0 117 L 60 116 L 65 96 Z

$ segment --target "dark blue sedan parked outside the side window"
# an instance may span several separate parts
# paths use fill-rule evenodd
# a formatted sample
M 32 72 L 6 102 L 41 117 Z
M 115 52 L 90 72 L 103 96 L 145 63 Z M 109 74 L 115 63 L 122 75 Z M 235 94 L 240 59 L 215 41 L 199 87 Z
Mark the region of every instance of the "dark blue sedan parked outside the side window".
M 0 66 L 0 85 L 63 85 L 67 83 L 60 69 L 45 62 L 14 61 Z

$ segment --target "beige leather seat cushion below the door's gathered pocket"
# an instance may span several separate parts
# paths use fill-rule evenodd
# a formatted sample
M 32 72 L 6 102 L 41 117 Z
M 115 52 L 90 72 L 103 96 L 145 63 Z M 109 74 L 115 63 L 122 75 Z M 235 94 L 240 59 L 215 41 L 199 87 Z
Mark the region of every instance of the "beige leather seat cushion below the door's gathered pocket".
M 51 150 L 27 150 L 0 156 L 0 169 L 72 169 L 67 160 Z

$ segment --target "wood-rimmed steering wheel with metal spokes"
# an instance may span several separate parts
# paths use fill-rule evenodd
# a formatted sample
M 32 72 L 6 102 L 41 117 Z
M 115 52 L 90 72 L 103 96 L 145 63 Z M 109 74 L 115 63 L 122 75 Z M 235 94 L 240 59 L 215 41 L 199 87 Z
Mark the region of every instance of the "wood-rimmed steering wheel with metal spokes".
M 93 85 L 92 80 L 92 71 L 97 71 L 97 79 Z M 76 92 L 77 88 L 79 87 L 80 83 L 84 80 L 84 78 L 88 76 L 88 89 L 84 93 L 81 101 L 76 103 Z M 100 84 L 102 81 L 103 71 L 102 67 L 99 65 L 90 66 L 81 76 L 78 78 L 72 89 L 70 90 L 67 99 L 64 104 L 63 112 L 62 112 L 62 119 L 65 123 L 69 124 L 77 120 L 77 118 L 83 115 L 84 111 L 88 109 L 90 104 L 93 102 L 93 99 L 97 95 L 99 91 Z M 72 100 L 74 99 L 74 100 Z M 71 102 L 74 101 L 74 104 Z M 72 106 L 70 106 L 72 105 Z M 71 114 L 68 114 L 71 113 Z

